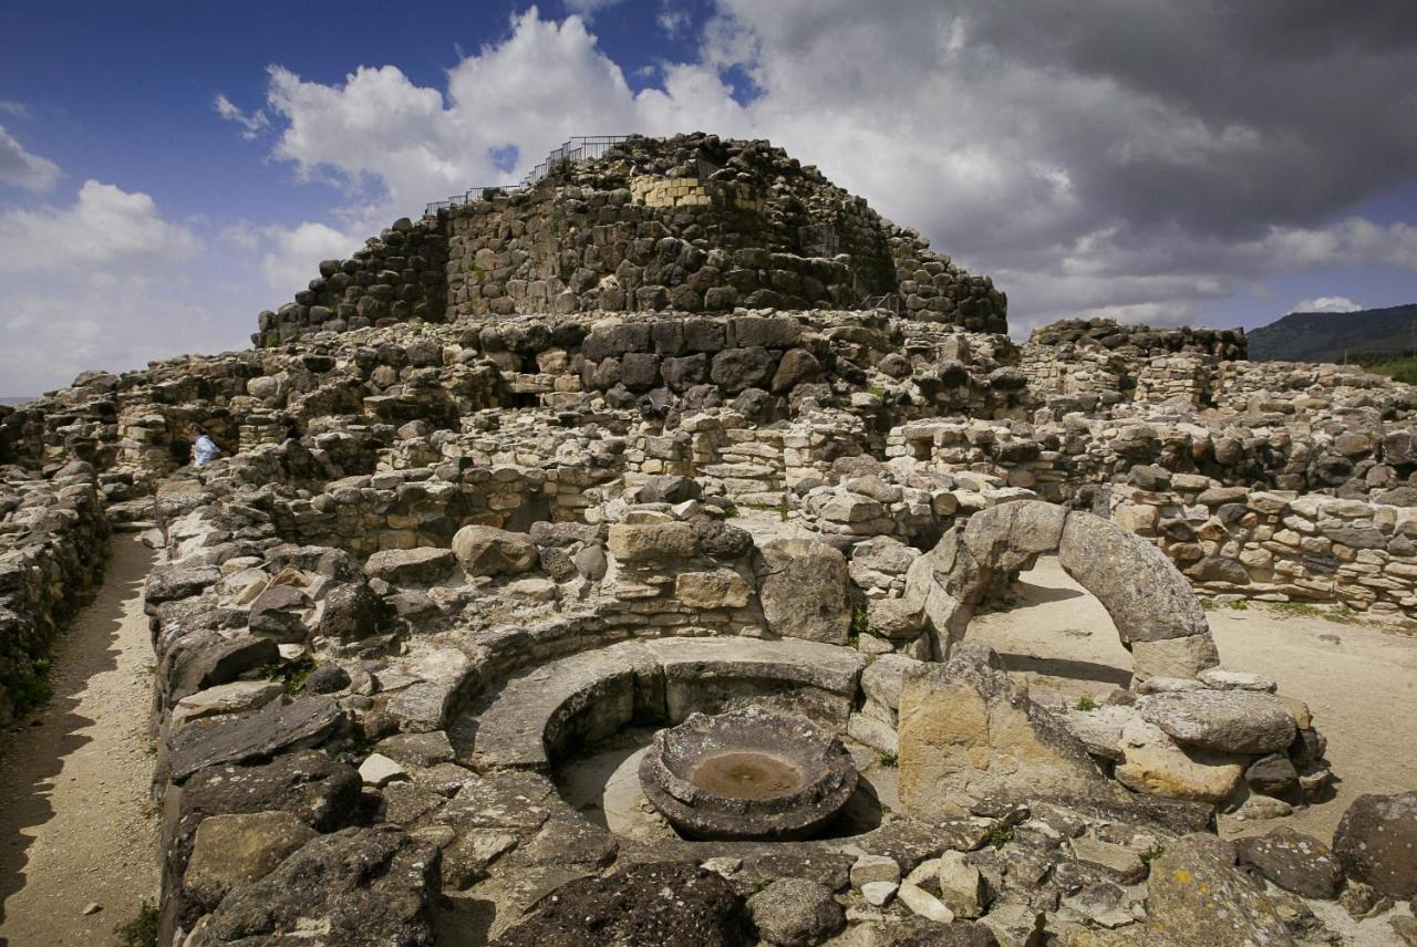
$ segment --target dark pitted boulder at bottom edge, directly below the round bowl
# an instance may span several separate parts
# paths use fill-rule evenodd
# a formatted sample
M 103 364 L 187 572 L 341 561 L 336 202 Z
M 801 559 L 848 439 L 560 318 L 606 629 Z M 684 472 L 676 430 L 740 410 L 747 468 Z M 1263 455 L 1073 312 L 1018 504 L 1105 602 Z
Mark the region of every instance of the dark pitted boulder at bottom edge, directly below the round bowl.
M 696 865 L 633 865 L 608 878 L 582 878 L 543 897 L 497 947 L 615 947 L 752 943 L 743 900 L 721 876 Z

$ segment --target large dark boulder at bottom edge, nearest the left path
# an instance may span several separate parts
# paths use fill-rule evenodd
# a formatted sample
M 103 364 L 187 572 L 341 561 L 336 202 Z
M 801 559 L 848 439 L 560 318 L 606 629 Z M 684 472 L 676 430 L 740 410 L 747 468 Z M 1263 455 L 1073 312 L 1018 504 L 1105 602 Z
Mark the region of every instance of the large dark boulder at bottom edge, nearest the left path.
M 298 930 L 317 930 L 327 944 L 432 944 L 439 855 L 395 825 L 320 835 L 232 889 L 186 944 L 281 943 Z

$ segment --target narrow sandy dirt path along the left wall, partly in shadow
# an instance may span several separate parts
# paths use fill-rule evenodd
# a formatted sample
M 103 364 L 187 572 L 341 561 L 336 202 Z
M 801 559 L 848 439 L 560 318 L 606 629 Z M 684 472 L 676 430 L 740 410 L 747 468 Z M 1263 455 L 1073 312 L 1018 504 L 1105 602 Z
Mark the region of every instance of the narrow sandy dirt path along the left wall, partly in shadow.
M 157 892 L 147 804 L 153 553 L 113 539 L 105 585 L 54 655 L 38 726 L 0 733 L 0 944 L 113 943 Z M 98 903 L 101 910 L 85 916 Z

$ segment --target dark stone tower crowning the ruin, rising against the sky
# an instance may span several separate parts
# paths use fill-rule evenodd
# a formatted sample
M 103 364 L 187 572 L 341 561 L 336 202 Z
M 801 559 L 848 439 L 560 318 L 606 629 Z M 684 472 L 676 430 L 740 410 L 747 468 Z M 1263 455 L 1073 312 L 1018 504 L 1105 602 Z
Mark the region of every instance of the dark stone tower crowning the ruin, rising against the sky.
M 765 142 L 635 137 L 514 188 L 400 219 L 295 300 L 258 345 L 326 328 L 524 313 L 731 311 L 890 302 L 1003 331 L 1006 299 Z

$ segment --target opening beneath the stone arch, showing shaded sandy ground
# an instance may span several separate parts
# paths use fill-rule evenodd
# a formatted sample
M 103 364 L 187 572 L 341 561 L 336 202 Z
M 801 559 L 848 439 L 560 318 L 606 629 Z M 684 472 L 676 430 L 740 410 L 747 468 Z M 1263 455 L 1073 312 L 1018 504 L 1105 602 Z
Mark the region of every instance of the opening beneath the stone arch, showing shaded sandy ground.
M 1132 679 L 1132 655 L 1102 603 L 1073 580 L 1054 555 L 1039 556 L 975 612 L 966 641 L 992 647 L 1034 699 L 1101 704 Z

